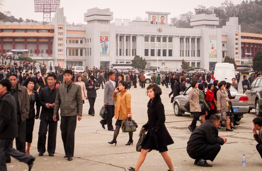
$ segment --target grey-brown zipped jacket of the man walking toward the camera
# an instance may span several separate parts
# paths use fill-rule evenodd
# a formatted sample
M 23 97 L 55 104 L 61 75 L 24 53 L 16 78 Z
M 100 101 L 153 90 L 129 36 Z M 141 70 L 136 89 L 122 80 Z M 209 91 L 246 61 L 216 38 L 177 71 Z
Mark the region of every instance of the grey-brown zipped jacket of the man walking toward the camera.
M 61 116 L 82 116 L 83 101 L 80 85 L 71 83 L 67 91 L 65 83 L 59 85 L 54 102 L 54 113 L 58 114 L 60 108 Z

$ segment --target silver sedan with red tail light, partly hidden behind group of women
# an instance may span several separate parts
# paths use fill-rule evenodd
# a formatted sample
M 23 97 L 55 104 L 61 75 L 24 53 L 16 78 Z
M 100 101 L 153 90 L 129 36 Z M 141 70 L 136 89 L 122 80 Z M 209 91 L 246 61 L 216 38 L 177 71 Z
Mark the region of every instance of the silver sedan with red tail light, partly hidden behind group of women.
M 180 92 L 180 95 L 174 98 L 173 109 L 175 116 L 182 116 L 185 112 L 189 112 L 184 108 L 184 105 L 188 102 L 188 94 L 191 89 L 190 85 L 184 92 Z M 240 94 L 233 86 L 230 88 L 230 93 L 231 95 L 236 95 L 232 102 L 232 106 L 236 121 L 240 121 L 240 119 L 243 118 L 243 114 L 248 113 L 248 97 L 244 94 Z

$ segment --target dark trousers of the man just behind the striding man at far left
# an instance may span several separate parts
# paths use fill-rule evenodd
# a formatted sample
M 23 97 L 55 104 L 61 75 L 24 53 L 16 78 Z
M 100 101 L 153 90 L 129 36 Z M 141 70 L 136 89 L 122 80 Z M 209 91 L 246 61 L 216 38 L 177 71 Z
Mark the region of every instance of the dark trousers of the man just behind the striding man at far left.
M 16 149 L 26 153 L 26 121 L 17 123 L 18 137 L 16 137 Z M 6 161 L 11 161 L 10 155 L 6 154 Z

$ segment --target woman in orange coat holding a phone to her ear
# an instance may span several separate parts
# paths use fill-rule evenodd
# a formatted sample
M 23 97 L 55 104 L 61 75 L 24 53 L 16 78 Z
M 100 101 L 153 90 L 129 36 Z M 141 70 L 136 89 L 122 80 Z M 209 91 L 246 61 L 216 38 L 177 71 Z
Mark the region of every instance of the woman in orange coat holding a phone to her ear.
M 113 93 L 113 100 L 115 100 L 115 113 L 114 117 L 115 122 L 115 130 L 113 140 L 108 142 L 109 144 L 116 145 L 116 138 L 119 134 L 119 130 L 121 128 L 121 123 L 123 120 L 132 117 L 131 115 L 131 95 L 127 92 L 128 84 L 125 81 L 120 81 L 118 87 L 115 89 Z M 133 144 L 133 132 L 129 133 L 129 140 L 125 145 Z

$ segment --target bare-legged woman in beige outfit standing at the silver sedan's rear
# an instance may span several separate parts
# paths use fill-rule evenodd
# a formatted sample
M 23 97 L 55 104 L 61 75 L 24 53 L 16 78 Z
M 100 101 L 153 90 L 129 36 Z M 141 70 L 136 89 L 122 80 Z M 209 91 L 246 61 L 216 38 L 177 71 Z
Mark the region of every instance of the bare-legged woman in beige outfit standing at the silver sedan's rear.
M 221 113 L 221 118 L 225 118 L 224 115 L 226 115 L 226 131 L 233 131 L 229 126 L 229 113 L 228 113 L 228 106 L 227 101 L 229 99 L 227 98 L 227 92 L 225 90 L 225 84 L 223 81 L 218 83 L 219 91 L 217 92 L 217 110 Z

